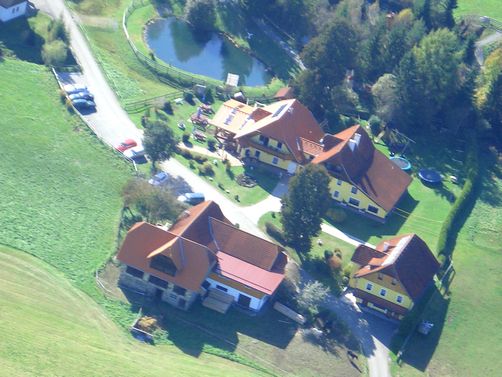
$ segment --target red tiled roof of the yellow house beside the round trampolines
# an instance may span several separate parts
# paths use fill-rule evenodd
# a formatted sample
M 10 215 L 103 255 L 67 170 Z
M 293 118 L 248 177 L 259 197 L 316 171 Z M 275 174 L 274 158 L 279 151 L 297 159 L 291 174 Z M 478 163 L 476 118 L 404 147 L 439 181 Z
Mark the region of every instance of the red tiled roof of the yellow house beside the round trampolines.
M 360 135 L 359 144 L 350 143 Z M 312 160 L 343 167 L 345 179 L 364 192 L 371 200 L 390 212 L 406 192 L 412 178 L 378 151 L 359 125 L 323 139 L 324 152 Z

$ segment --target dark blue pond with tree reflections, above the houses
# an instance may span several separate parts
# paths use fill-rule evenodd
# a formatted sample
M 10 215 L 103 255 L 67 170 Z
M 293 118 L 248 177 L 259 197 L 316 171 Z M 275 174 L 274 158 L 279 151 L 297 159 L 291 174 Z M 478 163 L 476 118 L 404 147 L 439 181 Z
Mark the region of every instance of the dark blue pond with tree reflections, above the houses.
M 225 81 L 227 73 L 240 76 L 239 85 L 264 85 L 272 76 L 258 59 L 235 47 L 217 33 L 200 36 L 186 22 L 174 17 L 149 24 L 146 41 L 167 64 Z

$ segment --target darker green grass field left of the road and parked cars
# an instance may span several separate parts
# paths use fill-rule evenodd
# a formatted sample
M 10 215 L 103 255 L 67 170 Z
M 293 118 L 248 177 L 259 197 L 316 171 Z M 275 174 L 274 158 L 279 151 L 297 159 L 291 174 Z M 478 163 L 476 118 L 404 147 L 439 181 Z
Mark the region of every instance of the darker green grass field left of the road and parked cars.
M 0 63 L 0 243 L 82 288 L 115 251 L 130 167 L 61 104 L 44 66 Z

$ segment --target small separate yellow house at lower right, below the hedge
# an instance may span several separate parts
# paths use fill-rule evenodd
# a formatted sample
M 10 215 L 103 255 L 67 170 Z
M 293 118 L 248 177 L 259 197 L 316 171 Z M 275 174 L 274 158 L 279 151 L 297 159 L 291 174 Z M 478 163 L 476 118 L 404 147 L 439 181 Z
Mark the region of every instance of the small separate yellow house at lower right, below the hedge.
M 357 302 L 395 319 L 403 316 L 433 282 L 439 263 L 416 234 L 397 236 L 376 248 L 359 245 L 352 256 L 351 277 Z

